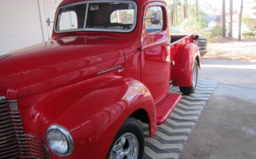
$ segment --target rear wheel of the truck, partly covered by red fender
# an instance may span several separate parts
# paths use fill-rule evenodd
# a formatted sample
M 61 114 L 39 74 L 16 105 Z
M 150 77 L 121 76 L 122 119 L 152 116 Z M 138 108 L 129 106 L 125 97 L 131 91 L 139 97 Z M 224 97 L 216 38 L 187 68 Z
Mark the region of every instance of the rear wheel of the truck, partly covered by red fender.
M 180 90 L 184 95 L 190 95 L 191 93 L 194 93 L 194 91 L 196 90 L 197 79 L 198 79 L 198 64 L 197 64 L 197 61 L 194 62 L 192 76 L 193 76 L 192 77 L 192 86 L 188 86 L 188 87 L 180 86 Z M 196 76 L 195 81 L 194 81 L 194 76 Z

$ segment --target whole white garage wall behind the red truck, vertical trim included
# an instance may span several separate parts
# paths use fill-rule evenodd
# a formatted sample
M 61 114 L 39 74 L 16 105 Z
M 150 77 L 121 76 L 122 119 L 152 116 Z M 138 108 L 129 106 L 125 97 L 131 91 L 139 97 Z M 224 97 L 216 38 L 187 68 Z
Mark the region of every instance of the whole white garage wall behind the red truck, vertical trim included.
M 0 55 L 51 37 L 55 9 L 61 0 L 1 0 Z

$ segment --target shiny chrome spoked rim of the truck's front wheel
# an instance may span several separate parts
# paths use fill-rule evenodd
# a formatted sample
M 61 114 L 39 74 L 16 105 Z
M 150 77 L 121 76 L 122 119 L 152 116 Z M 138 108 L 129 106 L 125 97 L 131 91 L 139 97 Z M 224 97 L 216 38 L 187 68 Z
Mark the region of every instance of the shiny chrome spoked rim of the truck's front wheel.
M 109 159 L 136 159 L 138 158 L 138 147 L 136 135 L 125 133 L 113 144 Z

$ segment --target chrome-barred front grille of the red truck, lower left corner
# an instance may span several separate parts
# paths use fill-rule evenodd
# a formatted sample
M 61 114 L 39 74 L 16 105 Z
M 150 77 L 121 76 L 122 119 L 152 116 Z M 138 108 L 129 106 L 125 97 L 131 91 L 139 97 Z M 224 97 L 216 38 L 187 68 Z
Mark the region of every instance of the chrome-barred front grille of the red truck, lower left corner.
M 24 134 L 15 103 L 0 97 L 0 158 L 51 158 L 44 142 L 34 135 Z

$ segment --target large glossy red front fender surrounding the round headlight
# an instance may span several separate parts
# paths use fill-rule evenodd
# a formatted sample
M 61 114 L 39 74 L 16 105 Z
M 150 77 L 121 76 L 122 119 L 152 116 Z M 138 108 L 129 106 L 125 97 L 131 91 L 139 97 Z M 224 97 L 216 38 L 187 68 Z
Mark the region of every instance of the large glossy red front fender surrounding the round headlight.
M 75 147 L 67 158 L 105 158 L 116 133 L 134 111 L 144 109 L 156 132 L 154 100 L 146 86 L 118 76 L 95 77 L 19 100 L 25 133 L 46 143 L 46 129 L 60 124 Z M 59 158 L 52 153 L 53 158 Z

